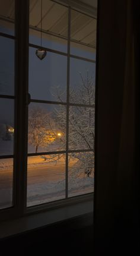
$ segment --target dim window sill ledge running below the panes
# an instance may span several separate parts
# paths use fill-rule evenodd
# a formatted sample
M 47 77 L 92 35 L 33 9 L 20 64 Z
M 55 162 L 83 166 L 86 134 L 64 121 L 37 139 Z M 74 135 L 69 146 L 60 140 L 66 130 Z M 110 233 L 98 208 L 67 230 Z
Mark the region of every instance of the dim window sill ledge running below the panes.
M 15 220 L 8 220 L 1 223 L 0 239 L 12 235 L 27 232 L 30 230 L 52 225 L 65 220 L 73 219 L 85 214 L 93 214 L 93 200 L 82 201 L 70 206 L 45 211 L 43 213 L 31 214 Z M 92 225 L 93 220 L 87 219 L 82 222 L 82 226 Z

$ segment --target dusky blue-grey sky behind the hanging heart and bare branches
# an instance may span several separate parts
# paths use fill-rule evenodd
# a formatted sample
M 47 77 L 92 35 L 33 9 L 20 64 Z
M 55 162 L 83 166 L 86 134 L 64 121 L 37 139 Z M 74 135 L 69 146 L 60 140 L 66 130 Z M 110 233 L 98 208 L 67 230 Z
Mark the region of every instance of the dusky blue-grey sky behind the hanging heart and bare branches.
M 13 34 L 12 30 L 0 27 L 0 31 Z M 0 94 L 14 95 L 14 40 L 0 37 Z M 30 36 L 30 42 L 40 44 L 40 39 Z M 66 44 L 50 42 L 43 39 L 43 45 L 66 52 Z M 86 55 L 87 58 L 95 59 L 96 53 L 84 52 L 77 48 L 71 48 L 75 55 Z M 57 90 L 63 91 L 63 101 L 66 101 L 66 56 L 47 52 L 42 61 L 36 56 L 36 48 L 29 48 L 29 93 L 32 99 L 58 100 L 52 94 Z M 70 61 L 70 90 L 81 83 L 79 72 L 85 77 L 87 71 L 95 78 L 96 64 L 79 59 L 71 58 Z M 78 103 L 78 102 L 75 102 Z M 14 123 L 14 100 L 0 99 L 0 124 L 13 125 Z

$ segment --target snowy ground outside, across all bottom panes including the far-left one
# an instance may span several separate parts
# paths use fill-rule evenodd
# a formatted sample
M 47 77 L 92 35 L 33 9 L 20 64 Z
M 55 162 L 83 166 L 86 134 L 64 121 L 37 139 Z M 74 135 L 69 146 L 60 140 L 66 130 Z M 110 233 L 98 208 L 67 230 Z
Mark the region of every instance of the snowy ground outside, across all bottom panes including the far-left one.
M 7 144 L 7 154 L 11 147 L 10 141 Z M 1 148 L 1 146 L 0 146 Z M 30 148 L 33 150 L 33 148 Z M 41 150 L 41 149 L 40 149 Z M 53 159 L 56 160 L 56 159 Z M 11 206 L 12 201 L 12 159 L 0 159 L 0 208 Z M 79 175 L 72 175 L 77 160 L 69 162 L 68 196 L 87 194 L 93 192 L 94 178 L 87 177 L 83 172 Z M 80 173 L 80 170 L 79 170 Z M 50 201 L 65 198 L 65 159 L 62 157 L 57 162 L 49 159 L 44 161 L 41 156 L 28 157 L 27 172 L 27 206 L 42 204 Z

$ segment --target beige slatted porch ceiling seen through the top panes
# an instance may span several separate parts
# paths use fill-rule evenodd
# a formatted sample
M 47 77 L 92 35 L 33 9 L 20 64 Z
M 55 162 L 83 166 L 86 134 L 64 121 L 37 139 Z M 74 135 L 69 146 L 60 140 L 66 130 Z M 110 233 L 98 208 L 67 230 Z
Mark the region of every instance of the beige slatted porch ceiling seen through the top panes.
M 7 4 L 4 4 L 4 3 Z M 66 39 L 68 36 L 68 9 L 56 2 L 43 0 L 42 19 L 40 14 L 40 0 L 30 0 L 31 33 L 39 31 L 42 21 L 43 35 L 50 34 Z M 77 1 L 78 2 L 78 1 Z M 81 1 L 92 7 L 97 7 L 97 0 Z M 14 1 L 0 0 L 0 17 L 14 19 Z M 0 21 L 1 22 L 1 21 Z M 71 40 L 79 45 L 96 48 L 96 19 L 72 10 L 71 12 Z

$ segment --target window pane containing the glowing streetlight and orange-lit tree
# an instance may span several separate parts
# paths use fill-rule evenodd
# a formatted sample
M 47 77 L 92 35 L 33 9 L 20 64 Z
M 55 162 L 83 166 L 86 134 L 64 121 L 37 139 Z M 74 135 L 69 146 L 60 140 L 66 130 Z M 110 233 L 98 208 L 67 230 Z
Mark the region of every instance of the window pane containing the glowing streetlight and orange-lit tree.
M 66 106 L 31 103 L 28 112 L 28 153 L 66 147 Z

